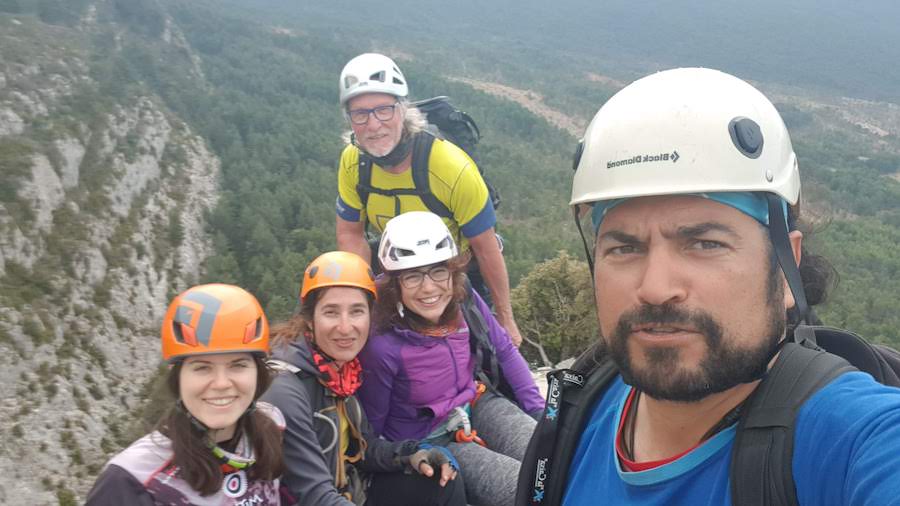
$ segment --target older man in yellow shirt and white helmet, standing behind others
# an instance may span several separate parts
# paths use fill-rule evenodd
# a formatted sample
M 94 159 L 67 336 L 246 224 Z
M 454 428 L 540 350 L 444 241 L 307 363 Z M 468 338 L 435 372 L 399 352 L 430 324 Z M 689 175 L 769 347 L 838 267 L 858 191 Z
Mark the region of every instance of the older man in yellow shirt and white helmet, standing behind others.
M 417 191 L 413 154 L 432 138 L 425 132 L 424 116 L 407 101 L 408 93 L 403 73 L 381 54 L 361 54 L 341 72 L 341 107 L 352 135 L 338 168 L 338 248 L 371 260 L 366 224 L 381 233 L 394 216 L 442 206 L 447 211 L 444 222 L 457 244 L 463 251 L 471 249 L 477 262 L 472 274 L 480 273 L 497 319 L 519 345 L 522 338 L 512 314 L 509 277 L 494 232 L 497 220 L 487 186 L 462 149 L 433 139 L 427 156 L 429 191 Z M 371 164 L 370 183 L 360 181 L 361 163 Z M 426 199 L 436 202 L 429 205 Z M 487 295 L 478 280 L 473 284 Z

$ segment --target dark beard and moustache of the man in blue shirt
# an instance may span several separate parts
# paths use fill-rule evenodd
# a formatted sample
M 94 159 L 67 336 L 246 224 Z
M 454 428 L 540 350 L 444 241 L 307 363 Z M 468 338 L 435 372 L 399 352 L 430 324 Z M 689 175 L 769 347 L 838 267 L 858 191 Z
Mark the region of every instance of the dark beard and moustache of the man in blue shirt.
M 610 338 L 601 338 L 601 343 L 606 341 L 605 348 L 625 383 L 655 399 L 699 401 L 710 394 L 755 381 L 765 374 L 785 330 L 785 312 L 781 305 L 784 288 L 777 270 L 770 272 L 768 285 L 769 326 L 762 339 L 755 339 L 753 342 L 757 344 L 750 347 L 735 346 L 737 336 L 726 335 L 722 325 L 709 313 L 686 310 L 673 304 L 643 304 L 626 312 L 619 318 Z M 635 326 L 647 324 L 672 324 L 694 329 L 706 341 L 706 355 L 694 370 L 687 370 L 681 367 L 681 349 L 650 347 L 643 351 L 646 365 L 635 367 L 628 349 L 628 336 Z

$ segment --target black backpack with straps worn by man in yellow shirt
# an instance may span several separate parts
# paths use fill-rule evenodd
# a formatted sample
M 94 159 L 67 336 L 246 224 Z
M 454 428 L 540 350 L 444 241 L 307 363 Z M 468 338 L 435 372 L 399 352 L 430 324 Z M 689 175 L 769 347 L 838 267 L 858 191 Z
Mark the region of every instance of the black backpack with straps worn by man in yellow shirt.
M 442 217 L 451 218 L 453 213 L 447 206 L 431 193 L 431 183 L 428 180 L 428 156 L 431 154 L 431 145 L 434 138 L 445 139 L 457 145 L 466 152 L 478 166 L 481 178 L 487 186 L 488 195 L 494 209 L 500 205 L 500 194 L 484 175 L 484 168 L 478 162 L 475 145 L 481 139 L 478 125 L 471 116 L 460 111 L 450 99 L 445 96 L 429 98 L 412 102 L 412 106 L 418 108 L 425 115 L 429 123 L 429 129 L 424 134 L 419 134 L 413 140 L 412 176 L 414 188 L 385 190 L 372 186 L 372 158 L 365 153 L 359 155 L 359 183 L 356 192 L 362 201 L 363 209 L 369 201 L 369 194 L 377 193 L 388 197 L 400 195 L 415 195 L 422 199 L 425 207 L 432 213 Z M 400 214 L 400 200 L 395 199 L 395 215 Z

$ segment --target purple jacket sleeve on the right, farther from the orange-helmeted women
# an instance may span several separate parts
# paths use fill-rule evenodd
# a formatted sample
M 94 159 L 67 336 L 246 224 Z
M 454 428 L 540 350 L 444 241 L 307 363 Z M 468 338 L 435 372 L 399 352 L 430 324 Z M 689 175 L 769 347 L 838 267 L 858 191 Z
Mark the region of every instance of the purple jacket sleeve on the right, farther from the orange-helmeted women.
M 475 297 L 475 304 L 488 325 L 488 332 L 491 336 L 491 343 L 497 350 L 497 362 L 503 370 L 503 376 L 512 387 L 516 394 L 516 400 L 522 411 L 531 414 L 544 409 L 544 399 L 541 392 L 534 383 L 534 377 L 531 370 L 528 369 L 528 363 L 519 353 L 519 349 L 515 347 L 506 329 L 500 325 L 500 322 L 491 314 L 491 310 L 474 290 L 472 295 Z

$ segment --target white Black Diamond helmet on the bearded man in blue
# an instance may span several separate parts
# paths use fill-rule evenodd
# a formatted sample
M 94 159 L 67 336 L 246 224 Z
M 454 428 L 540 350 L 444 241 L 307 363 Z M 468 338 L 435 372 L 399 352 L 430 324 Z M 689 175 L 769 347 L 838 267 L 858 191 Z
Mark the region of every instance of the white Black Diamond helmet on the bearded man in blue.
M 703 68 L 659 72 L 616 93 L 575 157 L 571 204 L 647 195 L 800 194 L 781 116 L 751 85 Z

